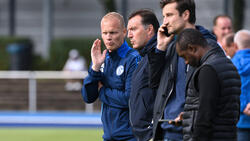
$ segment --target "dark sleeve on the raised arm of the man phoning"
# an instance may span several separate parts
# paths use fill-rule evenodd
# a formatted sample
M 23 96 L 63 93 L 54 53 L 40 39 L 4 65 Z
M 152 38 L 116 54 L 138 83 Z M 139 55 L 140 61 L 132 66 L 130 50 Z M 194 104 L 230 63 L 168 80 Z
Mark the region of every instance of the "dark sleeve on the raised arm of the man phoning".
M 157 89 L 160 83 L 166 52 L 157 49 L 148 54 L 149 61 L 149 87 Z

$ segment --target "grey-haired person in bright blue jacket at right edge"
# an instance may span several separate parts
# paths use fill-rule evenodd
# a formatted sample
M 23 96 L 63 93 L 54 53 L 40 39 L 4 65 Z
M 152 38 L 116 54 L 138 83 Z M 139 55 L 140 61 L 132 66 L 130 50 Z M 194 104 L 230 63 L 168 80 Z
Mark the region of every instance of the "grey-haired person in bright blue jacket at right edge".
M 250 31 L 240 30 L 234 36 L 238 47 L 232 62 L 241 77 L 240 120 L 238 127 L 238 141 L 250 140 Z

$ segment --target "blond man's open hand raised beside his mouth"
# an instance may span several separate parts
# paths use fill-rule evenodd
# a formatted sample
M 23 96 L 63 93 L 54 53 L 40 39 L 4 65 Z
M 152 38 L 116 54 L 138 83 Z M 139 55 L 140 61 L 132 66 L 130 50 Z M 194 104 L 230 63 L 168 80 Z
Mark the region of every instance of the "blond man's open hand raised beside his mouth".
M 101 50 L 101 40 L 96 39 L 91 48 L 92 69 L 99 71 L 106 57 L 107 50 Z

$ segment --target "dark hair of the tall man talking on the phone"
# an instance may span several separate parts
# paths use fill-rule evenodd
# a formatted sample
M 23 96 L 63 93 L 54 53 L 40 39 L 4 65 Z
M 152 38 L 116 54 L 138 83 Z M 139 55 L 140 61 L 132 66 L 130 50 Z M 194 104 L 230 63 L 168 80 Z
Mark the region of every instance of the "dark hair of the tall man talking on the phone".
M 161 0 L 160 6 L 163 9 L 165 5 L 169 3 L 177 3 L 176 9 L 179 11 L 179 15 L 181 16 L 184 11 L 188 10 L 190 12 L 190 16 L 188 21 L 191 24 L 195 24 L 196 15 L 195 15 L 195 2 L 194 0 Z

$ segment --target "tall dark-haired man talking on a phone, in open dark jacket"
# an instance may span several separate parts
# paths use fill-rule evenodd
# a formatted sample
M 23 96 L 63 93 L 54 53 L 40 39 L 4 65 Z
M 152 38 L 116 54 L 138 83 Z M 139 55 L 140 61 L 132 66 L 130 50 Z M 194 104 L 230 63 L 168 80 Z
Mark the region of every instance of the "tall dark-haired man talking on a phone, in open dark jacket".
M 186 28 L 198 29 L 207 40 L 216 38 L 201 26 L 195 26 L 195 3 L 193 0 L 161 0 L 163 24 L 157 35 L 157 47 L 149 55 L 150 87 L 158 88 L 153 117 L 154 140 L 183 139 L 182 127 L 169 124 L 183 111 L 185 103 L 185 80 L 193 69 L 175 50 L 175 35 Z M 169 37 L 164 33 L 168 30 Z M 217 46 L 216 46 L 217 47 Z M 188 73 L 187 73 L 188 72 Z

